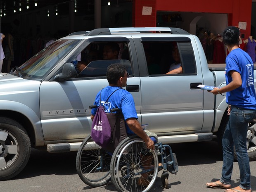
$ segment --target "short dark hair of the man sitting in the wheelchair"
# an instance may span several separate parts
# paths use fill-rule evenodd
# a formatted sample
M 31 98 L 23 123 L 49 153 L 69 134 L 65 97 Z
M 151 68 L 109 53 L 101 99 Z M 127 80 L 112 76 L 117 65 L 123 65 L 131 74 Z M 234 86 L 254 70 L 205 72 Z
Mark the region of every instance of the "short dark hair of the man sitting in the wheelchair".
M 111 64 L 107 67 L 107 81 L 109 84 L 116 85 L 120 77 L 124 76 L 126 72 L 126 67 L 122 64 Z

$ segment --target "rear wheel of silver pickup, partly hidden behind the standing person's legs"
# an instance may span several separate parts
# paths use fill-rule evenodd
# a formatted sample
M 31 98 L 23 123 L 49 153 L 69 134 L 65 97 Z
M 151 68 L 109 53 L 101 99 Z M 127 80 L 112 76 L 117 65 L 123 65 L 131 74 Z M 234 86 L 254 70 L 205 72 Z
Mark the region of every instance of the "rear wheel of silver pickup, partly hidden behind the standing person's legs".
M 217 140 L 218 143 L 222 146 L 222 137 L 229 121 L 229 117 L 223 118 L 223 122 L 218 130 Z M 235 149 L 234 149 L 235 150 Z M 247 152 L 250 161 L 256 160 L 256 119 L 248 123 L 248 131 L 247 131 Z M 234 158 L 237 160 L 237 154 L 234 152 Z

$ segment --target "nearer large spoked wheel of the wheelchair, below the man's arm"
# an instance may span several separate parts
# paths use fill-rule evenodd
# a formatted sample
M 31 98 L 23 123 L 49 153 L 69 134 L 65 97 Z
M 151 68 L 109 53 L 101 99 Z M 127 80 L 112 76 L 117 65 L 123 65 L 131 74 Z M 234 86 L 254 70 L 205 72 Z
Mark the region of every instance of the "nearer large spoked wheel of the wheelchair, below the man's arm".
M 111 180 L 119 192 L 147 192 L 154 185 L 158 172 L 156 150 L 133 135 L 116 147 L 110 164 Z

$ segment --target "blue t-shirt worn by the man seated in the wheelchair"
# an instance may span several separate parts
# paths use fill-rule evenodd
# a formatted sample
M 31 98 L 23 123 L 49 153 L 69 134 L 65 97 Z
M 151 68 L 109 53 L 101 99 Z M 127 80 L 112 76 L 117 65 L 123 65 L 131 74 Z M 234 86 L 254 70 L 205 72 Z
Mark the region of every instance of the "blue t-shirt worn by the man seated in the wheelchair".
M 115 90 L 117 91 L 114 92 Z M 133 96 L 130 94 L 130 92 L 128 92 L 125 89 L 120 89 L 117 86 L 107 86 L 103 88 L 100 92 L 98 92 L 98 94 L 96 95 L 94 104 L 97 106 L 100 106 L 100 104 L 102 106 L 104 105 L 106 113 L 110 113 L 110 109 L 119 108 L 123 113 L 124 120 L 129 118 L 138 119 Z M 112 92 L 114 92 L 113 95 L 111 95 Z M 109 95 L 111 96 L 109 97 Z M 109 97 L 109 100 L 106 102 L 108 97 Z M 101 100 L 101 103 L 99 104 L 100 100 Z M 105 102 L 106 104 L 104 104 Z M 91 111 L 91 114 L 95 115 L 96 111 L 97 111 L 97 108 L 93 108 Z M 128 135 L 134 134 L 127 125 L 126 125 L 126 130 Z

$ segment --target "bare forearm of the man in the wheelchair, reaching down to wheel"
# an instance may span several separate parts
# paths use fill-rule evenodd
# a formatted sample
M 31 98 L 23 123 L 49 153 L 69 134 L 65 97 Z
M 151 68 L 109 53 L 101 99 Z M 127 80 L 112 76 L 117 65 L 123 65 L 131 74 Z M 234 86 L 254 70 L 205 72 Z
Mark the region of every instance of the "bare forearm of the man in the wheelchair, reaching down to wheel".
M 126 123 L 129 126 L 130 130 L 133 131 L 133 133 L 135 133 L 140 138 L 142 138 L 142 140 L 145 141 L 145 144 L 148 149 L 152 149 L 152 150 L 155 149 L 154 142 L 149 138 L 149 136 L 147 136 L 147 134 L 142 129 L 142 127 L 141 127 L 139 121 L 137 121 L 137 119 L 135 119 L 135 118 L 126 119 Z

